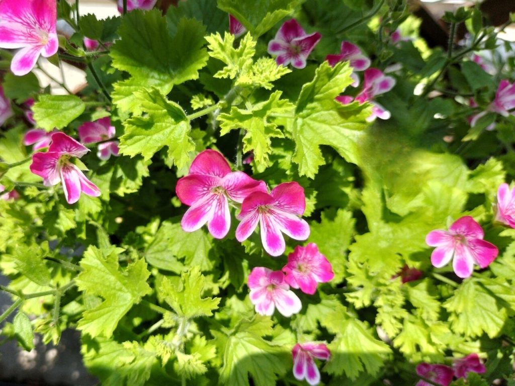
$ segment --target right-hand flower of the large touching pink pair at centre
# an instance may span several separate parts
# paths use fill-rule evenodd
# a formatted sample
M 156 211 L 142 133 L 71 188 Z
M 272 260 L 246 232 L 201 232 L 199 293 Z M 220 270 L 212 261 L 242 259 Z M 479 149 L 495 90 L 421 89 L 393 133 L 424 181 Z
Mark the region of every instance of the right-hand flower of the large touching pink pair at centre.
M 310 226 L 302 216 L 306 208 L 304 188 L 297 182 L 284 182 L 272 189 L 270 194 L 255 191 L 245 198 L 241 212 L 242 220 L 236 228 L 236 239 L 246 240 L 261 223 L 263 247 L 272 256 L 284 253 L 286 245 L 281 232 L 295 240 L 310 236 Z

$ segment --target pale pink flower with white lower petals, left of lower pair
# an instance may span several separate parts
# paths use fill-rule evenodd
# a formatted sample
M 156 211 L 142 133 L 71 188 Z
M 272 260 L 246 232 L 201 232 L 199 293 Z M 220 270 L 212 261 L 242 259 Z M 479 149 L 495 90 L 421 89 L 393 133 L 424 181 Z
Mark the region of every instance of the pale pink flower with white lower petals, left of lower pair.
M 256 312 L 261 315 L 271 315 L 274 309 L 290 317 L 300 312 L 302 303 L 284 280 L 281 271 L 272 271 L 265 267 L 252 269 L 248 279 L 250 301 Z

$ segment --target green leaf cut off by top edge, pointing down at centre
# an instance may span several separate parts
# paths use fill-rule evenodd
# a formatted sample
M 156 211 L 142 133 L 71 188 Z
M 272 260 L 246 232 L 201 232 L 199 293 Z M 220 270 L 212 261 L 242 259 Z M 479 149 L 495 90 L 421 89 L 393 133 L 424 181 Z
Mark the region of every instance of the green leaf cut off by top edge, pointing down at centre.
M 292 14 L 301 3 L 301 0 L 218 0 L 218 8 L 236 17 L 255 38 L 258 38 L 281 19 Z

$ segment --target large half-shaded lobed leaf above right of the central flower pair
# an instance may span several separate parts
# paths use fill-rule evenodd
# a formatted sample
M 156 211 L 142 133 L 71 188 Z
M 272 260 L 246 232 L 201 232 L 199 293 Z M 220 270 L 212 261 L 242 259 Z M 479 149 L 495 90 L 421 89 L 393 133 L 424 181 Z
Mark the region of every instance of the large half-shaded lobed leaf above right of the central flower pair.
M 352 83 L 348 63 L 331 67 L 323 62 L 312 82 L 304 84 L 297 101 L 291 134 L 295 141 L 293 161 L 299 174 L 314 178 L 318 167 L 325 164 L 320 145 L 329 145 L 347 161 L 358 163 L 357 141 L 366 128 L 370 115 L 366 104 L 342 106 L 334 100 Z

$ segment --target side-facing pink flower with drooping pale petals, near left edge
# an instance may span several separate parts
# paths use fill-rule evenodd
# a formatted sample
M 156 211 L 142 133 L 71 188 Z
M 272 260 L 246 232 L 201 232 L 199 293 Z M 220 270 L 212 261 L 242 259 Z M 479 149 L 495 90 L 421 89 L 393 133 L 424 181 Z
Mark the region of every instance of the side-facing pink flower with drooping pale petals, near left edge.
M 80 158 L 88 151 L 72 137 L 61 132 L 54 133 L 48 151 L 32 155 L 30 171 L 42 177 L 45 186 L 56 185 L 61 181 L 68 204 L 77 202 L 81 191 L 88 196 L 98 197 L 98 187 L 70 161 L 71 157 Z

